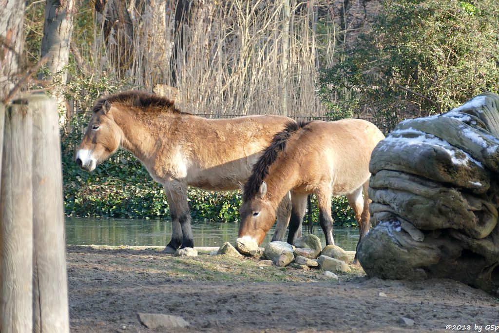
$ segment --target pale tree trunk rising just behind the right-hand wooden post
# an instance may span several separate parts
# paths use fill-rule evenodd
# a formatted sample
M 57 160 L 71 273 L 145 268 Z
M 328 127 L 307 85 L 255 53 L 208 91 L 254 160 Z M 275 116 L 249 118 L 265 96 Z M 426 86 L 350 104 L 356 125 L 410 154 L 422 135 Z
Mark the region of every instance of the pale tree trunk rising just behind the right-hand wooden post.
M 74 0 L 47 0 L 41 56 L 48 54 L 46 66 L 52 75 L 62 71 L 69 61 L 74 11 Z M 66 78 L 66 72 L 61 72 L 62 84 Z

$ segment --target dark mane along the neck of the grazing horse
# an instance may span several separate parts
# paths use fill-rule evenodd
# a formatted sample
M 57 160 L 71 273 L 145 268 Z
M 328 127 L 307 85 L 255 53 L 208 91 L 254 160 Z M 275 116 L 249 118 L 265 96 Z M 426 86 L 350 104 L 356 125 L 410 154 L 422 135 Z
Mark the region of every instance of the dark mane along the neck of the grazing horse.
M 279 153 L 286 149 L 289 138 L 308 123 L 290 121 L 282 131 L 274 135 L 270 145 L 263 150 L 263 154 L 251 169 L 251 176 L 245 184 L 243 193 L 244 201 L 251 200 L 258 193 L 261 183 L 268 175 L 268 169 L 275 162 Z

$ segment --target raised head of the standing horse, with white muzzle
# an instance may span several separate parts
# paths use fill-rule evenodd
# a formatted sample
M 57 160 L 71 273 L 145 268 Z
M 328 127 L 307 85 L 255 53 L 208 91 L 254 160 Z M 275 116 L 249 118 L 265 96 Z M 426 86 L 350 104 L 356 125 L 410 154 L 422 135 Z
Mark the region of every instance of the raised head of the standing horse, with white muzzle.
M 76 153 L 76 163 L 86 171 L 95 169 L 118 149 L 123 131 L 113 118 L 111 103 L 97 101 L 92 118 Z

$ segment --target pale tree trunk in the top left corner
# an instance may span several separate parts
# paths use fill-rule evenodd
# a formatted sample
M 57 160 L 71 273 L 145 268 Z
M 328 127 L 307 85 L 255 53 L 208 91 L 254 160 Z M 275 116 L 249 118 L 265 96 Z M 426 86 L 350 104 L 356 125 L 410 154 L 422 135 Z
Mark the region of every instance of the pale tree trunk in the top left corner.
M 3 0 L 0 15 L 0 100 L 14 86 L 24 43 L 24 1 Z

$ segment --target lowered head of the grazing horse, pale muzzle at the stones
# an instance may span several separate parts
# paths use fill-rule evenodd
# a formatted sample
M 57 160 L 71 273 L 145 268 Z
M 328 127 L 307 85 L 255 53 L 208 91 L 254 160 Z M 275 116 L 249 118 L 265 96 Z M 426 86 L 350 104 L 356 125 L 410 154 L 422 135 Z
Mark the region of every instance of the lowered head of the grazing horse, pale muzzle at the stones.
M 267 184 L 262 182 L 258 193 L 241 205 L 239 237 L 249 237 L 258 244 L 263 242 L 266 233 L 275 222 L 275 207 L 265 197 L 266 193 Z

